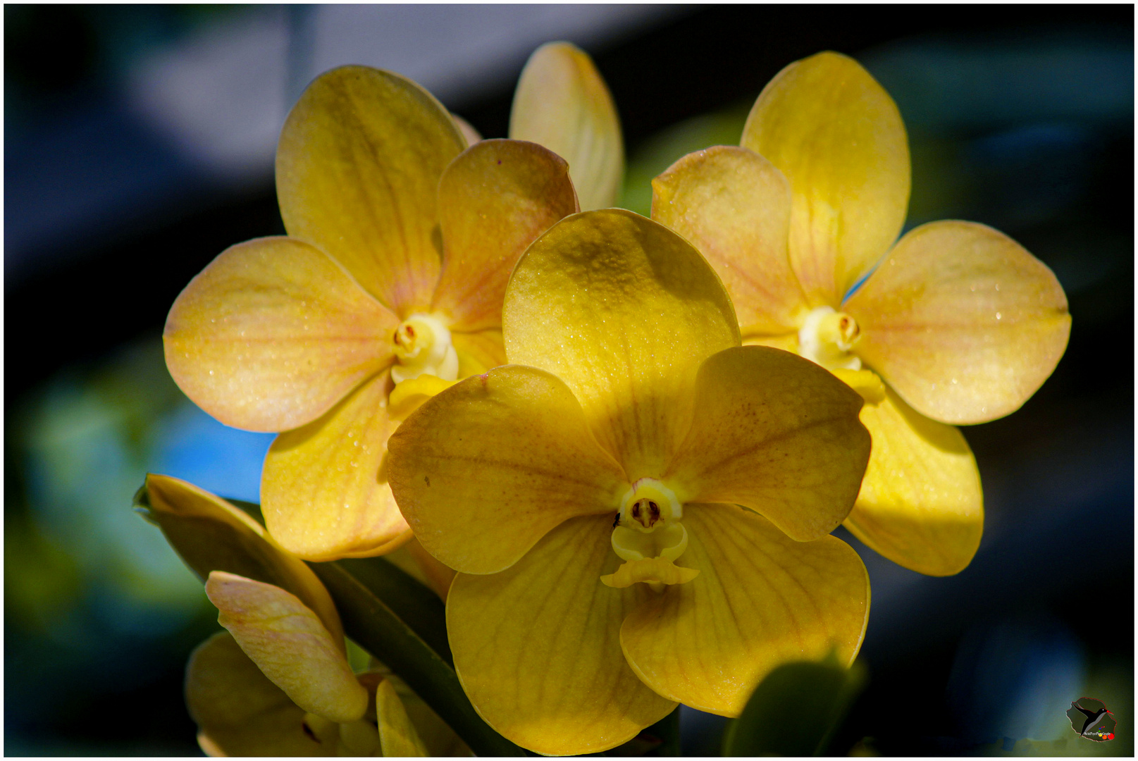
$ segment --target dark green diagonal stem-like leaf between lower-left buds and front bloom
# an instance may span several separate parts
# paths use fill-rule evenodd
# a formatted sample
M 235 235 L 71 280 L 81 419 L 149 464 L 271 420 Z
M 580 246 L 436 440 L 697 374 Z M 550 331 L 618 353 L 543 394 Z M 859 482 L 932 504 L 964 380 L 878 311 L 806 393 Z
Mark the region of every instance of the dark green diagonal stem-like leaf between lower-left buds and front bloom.
M 347 635 L 407 683 L 477 755 L 526 755 L 483 721 L 447 662 L 343 563 L 310 568 L 336 601 Z

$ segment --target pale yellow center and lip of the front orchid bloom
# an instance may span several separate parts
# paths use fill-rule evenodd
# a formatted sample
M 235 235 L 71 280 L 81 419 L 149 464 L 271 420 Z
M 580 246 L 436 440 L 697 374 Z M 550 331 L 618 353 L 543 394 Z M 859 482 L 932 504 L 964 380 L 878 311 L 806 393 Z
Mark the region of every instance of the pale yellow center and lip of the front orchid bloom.
M 687 549 L 687 529 L 681 524 L 684 507 L 676 494 L 653 478 L 636 481 L 620 501 L 612 528 L 612 551 L 625 563 L 616 573 L 602 576 L 610 587 L 643 581 L 655 592 L 685 584 L 699 573 L 675 561 Z

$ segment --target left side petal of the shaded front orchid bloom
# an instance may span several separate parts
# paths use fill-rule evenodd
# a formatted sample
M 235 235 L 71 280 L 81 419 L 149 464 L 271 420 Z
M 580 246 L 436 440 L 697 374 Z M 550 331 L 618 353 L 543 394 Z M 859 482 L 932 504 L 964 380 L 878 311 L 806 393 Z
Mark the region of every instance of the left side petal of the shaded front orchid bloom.
M 451 387 L 389 446 L 391 489 L 415 537 L 465 573 L 509 568 L 574 515 L 615 514 L 627 488 L 566 384 L 534 367 Z

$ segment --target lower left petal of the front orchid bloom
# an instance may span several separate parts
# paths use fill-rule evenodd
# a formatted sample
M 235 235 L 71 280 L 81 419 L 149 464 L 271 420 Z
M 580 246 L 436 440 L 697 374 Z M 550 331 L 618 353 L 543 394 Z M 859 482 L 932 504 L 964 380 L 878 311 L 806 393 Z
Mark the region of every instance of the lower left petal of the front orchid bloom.
M 600 577 L 620 560 L 611 519 L 566 521 L 512 568 L 460 573 L 446 604 L 462 686 L 506 738 L 551 755 L 632 739 L 675 708 L 645 687 L 620 652 L 620 623 L 650 593 Z

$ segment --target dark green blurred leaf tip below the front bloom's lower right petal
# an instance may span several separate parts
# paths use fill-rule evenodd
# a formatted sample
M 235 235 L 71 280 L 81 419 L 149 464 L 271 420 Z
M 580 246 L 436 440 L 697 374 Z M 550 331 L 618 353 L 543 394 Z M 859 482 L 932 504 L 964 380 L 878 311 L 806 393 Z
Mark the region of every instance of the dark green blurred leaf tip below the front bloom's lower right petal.
M 853 698 L 865 668 L 786 663 L 764 679 L 724 731 L 724 755 L 822 755 Z

